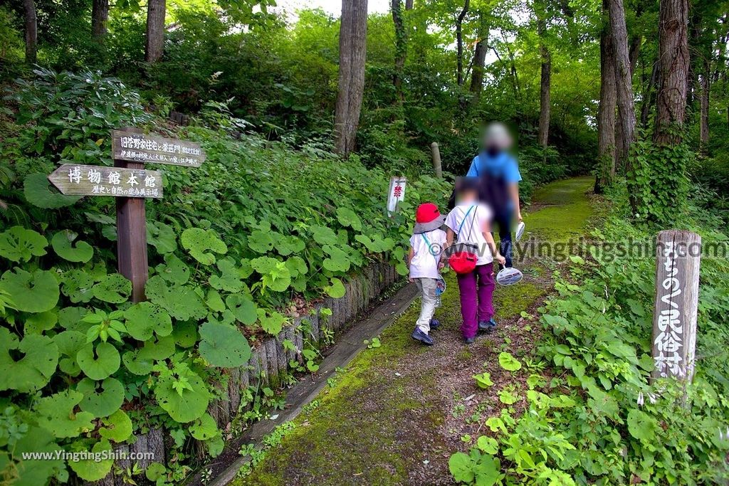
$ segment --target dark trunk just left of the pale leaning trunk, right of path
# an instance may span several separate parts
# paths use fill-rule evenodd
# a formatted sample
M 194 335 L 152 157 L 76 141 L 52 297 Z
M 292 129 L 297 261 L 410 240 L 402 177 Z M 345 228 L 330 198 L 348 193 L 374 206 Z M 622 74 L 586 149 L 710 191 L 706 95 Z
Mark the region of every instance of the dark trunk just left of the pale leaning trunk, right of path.
M 603 5 L 607 10 L 607 0 L 603 1 Z M 605 17 L 607 20 L 607 15 Z M 600 35 L 600 105 L 597 111 L 599 168 L 595 180 L 595 192 L 598 193 L 615 177 L 615 71 L 615 50 L 606 21 Z

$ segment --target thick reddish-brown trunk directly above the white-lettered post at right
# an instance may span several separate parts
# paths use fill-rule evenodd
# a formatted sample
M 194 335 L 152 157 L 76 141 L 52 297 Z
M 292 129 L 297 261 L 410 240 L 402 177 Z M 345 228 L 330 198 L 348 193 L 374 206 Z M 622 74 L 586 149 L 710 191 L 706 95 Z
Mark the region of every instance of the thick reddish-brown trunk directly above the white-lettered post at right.
M 679 144 L 686 112 L 688 78 L 688 0 L 661 0 L 658 15 L 660 80 L 653 140 Z

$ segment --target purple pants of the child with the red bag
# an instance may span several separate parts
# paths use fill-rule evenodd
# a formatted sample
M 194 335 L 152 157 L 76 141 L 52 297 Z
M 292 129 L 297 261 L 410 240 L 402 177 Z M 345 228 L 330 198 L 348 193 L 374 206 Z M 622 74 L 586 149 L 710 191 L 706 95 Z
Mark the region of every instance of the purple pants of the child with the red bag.
M 494 317 L 494 265 L 477 265 L 471 273 L 459 273 L 463 337 L 475 337 L 479 321 Z

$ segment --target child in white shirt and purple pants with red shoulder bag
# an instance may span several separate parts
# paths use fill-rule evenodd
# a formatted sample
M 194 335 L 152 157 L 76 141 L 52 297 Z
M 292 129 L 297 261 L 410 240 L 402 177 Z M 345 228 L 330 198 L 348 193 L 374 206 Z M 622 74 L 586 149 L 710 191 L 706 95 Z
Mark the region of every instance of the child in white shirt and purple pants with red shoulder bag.
M 496 329 L 493 262 L 505 263 L 491 235 L 491 209 L 479 202 L 478 190 L 476 178 L 460 179 L 456 206 L 445 218 L 448 263 L 458 276 L 466 344 L 474 342 L 477 332 Z

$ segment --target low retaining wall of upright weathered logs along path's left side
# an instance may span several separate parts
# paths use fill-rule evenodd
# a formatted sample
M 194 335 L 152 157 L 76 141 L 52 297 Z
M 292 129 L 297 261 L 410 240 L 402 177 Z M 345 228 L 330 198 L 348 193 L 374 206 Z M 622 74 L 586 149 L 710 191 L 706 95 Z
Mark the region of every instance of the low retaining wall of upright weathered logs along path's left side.
M 348 322 L 352 321 L 357 314 L 367 310 L 370 304 L 385 289 L 399 279 L 399 275 L 391 264 L 378 262 L 364 268 L 361 273 L 352 277 L 344 283 L 344 297 L 334 299 L 326 297 L 321 302 L 313 305 L 309 315 L 302 315 L 295 318 L 292 323 L 285 326 L 276 337 L 267 337 L 257 343 L 253 355 L 247 366 L 227 369 L 228 382 L 227 393 L 224 398 L 213 401 L 208 406 L 208 413 L 217 421 L 218 427 L 223 431 L 228 424 L 238 415 L 238 407 L 241 405 L 241 391 L 245 391 L 249 385 L 255 385 L 261 380 L 262 383 L 278 384 L 281 378 L 286 375 L 289 369 L 289 361 L 292 359 L 303 362 L 301 350 L 304 342 L 322 342 L 324 332 L 337 333 Z M 332 315 L 321 314 L 321 309 L 329 308 Z M 308 327 L 307 334 L 304 334 L 302 327 Z M 284 349 L 284 340 L 290 340 L 296 346 L 298 352 Z M 155 459 L 136 460 L 141 468 L 146 468 L 152 462 L 167 463 L 165 453 L 171 447 L 171 438 L 160 428 L 155 428 L 147 434 L 135 434 L 136 441 L 133 444 L 122 444 L 114 448 L 123 452 L 154 452 Z M 203 447 L 198 447 L 200 455 L 203 455 Z M 90 483 L 98 486 L 126 486 L 124 478 L 114 475 L 114 469 L 127 469 L 133 464 L 129 460 L 117 460 L 116 465 L 104 479 Z M 137 484 L 144 484 L 144 474 L 134 477 Z

